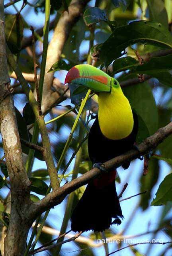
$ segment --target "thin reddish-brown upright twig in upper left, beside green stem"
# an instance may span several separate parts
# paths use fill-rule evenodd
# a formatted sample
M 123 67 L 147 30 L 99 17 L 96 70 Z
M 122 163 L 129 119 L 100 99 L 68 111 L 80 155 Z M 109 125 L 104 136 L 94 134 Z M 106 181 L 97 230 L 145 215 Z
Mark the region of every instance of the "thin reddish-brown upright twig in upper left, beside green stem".
M 36 89 L 36 94 L 37 94 L 37 103 L 38 103 L 38 108 L 39 108 L 39 116 L 42 115 L 41 112 L 41 101 L 39 98 L 39 88 L 38 88 L 38 80 L 37 80 L 37 63 L 36 63 L 36 54 L 35 54 L 35 36 L 34 36 L 34 28 L 31 26 L 30 28 L 32 32 L 32 50 L 33 50 L 33 65 L 34 65 L 34 81 L 35 81 L 35 89 Z

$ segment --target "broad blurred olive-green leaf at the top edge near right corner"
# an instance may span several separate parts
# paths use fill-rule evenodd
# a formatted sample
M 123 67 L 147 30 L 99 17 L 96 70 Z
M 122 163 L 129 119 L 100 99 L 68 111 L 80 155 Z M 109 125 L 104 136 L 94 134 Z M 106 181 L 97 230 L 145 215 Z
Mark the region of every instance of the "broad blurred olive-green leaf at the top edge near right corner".
M 159 22 L 168 28 L 168 15 L 162 0 L 147 0 L 149 20 Z

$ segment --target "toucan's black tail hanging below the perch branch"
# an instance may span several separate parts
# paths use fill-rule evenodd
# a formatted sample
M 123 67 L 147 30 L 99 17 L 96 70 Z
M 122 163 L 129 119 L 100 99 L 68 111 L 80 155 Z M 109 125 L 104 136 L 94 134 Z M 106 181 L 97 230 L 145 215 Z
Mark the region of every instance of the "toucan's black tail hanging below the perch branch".
M 90 182 L 71 216 L 73 231 L 102 232 L 123 218 L 115 187 L 115 171 Z M 115 220 L 112 221 L 112 218 Z

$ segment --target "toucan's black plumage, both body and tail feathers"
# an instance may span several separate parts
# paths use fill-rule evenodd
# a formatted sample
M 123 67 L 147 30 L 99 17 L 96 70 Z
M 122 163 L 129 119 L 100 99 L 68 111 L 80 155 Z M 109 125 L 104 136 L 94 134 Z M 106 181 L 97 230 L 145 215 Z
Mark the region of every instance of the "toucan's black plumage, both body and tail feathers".
M 88 136 L 88 152 L 93 164 L 104 163 L 133 148 L 138 131 L 137 114 L 133 112 L 134 127 L 129 136 L 121 140 L 106 138 L 98 123 L 98 117 L 92 125 Z M 107 124 L 108 125 L 108 124 Z M 128 168 L 130 162 L 123 164 Z M 121 224 L 123 218 L 115 187 L 116 170 L 111 170 L 91 181 L 71 216 L 73 231 L 103 231 L 111 224 Z M 112 221 L 112 218 L 115 218 Z

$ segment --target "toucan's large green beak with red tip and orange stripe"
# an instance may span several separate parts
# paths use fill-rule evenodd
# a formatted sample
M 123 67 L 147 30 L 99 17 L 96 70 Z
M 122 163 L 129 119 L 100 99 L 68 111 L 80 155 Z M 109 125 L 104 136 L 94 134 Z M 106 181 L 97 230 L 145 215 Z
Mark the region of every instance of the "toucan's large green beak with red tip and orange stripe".
M 94 92 L 111 91 L 111 77 L 88 64 L 71 68 L 66 75 L 65 84 L 83 85 Z

